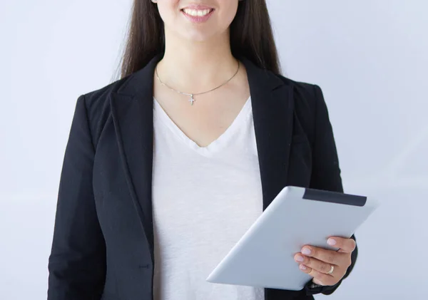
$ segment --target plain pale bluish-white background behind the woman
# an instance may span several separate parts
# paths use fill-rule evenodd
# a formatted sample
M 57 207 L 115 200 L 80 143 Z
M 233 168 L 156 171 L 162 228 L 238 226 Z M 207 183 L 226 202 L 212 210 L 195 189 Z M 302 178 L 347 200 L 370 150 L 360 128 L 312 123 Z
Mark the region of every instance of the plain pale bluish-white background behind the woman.
M 284 75 L 324 92 L 346 192 L 382 202 L 357 231 L 352 276 L 328 297 L 427 299 L 427 1 L 269 6 Z M 73 110 L 79 95 L 117 79 L 130 8 L 0 2 L 0 299 L 46 299 Z

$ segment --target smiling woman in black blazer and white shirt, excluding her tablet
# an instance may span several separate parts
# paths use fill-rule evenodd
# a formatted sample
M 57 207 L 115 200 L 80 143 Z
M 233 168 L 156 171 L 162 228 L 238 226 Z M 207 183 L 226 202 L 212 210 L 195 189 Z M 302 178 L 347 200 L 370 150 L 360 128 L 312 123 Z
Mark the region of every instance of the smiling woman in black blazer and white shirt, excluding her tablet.
M 77 100 L 48 299 L 335 291 L 354 239 L 296 254 L 302 291 L 205 282 L 285 185 L 342 192 L 322 91 L 280 76 L 265 0 L 136 0 L 122 71 Z

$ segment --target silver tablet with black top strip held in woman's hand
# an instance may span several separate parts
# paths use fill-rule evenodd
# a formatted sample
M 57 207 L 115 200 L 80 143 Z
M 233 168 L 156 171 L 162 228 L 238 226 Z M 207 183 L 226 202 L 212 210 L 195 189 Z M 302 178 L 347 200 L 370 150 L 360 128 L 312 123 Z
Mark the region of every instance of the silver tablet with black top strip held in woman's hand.
M 351 237 L 377 206 L 365 196 L 284 187 L 206 281 L 301 290 L 312 276 L 295 254 L 305 244 L 337 250 L 327 238 Z

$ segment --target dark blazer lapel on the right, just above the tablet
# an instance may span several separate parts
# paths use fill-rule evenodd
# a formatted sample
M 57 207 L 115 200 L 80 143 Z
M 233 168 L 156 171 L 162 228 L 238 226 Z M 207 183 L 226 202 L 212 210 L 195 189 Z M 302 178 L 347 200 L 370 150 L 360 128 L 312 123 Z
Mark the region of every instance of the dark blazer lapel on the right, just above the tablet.
M 287 185 L 294 102 L 292 86 L 242 58 L 253 105 L 263 210 Z

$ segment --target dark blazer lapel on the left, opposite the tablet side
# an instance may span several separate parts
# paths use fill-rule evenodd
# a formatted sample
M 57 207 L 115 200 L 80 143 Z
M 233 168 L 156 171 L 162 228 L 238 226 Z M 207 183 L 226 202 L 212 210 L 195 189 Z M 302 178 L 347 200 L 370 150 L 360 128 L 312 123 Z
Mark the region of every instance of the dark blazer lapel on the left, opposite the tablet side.
M 160 56 L 131 74 L 111 95 L 111 111 L 133 205 L 141 219 L 153 257 L 153 74 Z

